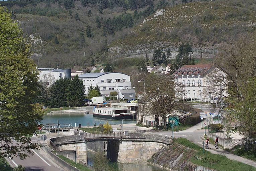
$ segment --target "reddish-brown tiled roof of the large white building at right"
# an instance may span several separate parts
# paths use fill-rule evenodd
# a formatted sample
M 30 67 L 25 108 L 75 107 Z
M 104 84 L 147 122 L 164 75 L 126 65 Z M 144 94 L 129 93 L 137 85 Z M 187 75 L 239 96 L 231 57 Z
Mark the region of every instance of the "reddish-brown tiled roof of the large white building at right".
M 209 65 L 209 64 L 184 65 L 178 70 L 176 70 L 172 75 L 184 75 L 184 74 L 202 75 L 212 68 L 214 68 L 213 65 Z

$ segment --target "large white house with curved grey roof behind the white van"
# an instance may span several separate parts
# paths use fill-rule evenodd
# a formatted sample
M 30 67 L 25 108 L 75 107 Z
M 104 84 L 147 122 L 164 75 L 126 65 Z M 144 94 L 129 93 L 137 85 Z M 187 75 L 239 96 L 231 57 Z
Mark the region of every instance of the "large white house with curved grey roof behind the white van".
M 135 98 L 135 91 L 132 89 L 129 75 L 119 72 L 95 72 L 81 74 L 79 78 L 83 80 L 85 94 L 88 94 L 90 85 L 93 87 L 98 85 L 102 95 L 109 96 L 114 90 L 120 99 Z

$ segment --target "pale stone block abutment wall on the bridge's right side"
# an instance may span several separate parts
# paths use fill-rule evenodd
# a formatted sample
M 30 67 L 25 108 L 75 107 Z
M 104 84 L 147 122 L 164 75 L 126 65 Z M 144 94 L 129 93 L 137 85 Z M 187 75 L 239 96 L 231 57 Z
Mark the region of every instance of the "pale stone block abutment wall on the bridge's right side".
M 117 161 L 121 163 L 147 162 L 164 146 L 166 145 L 157 142 L 121 141 Z

